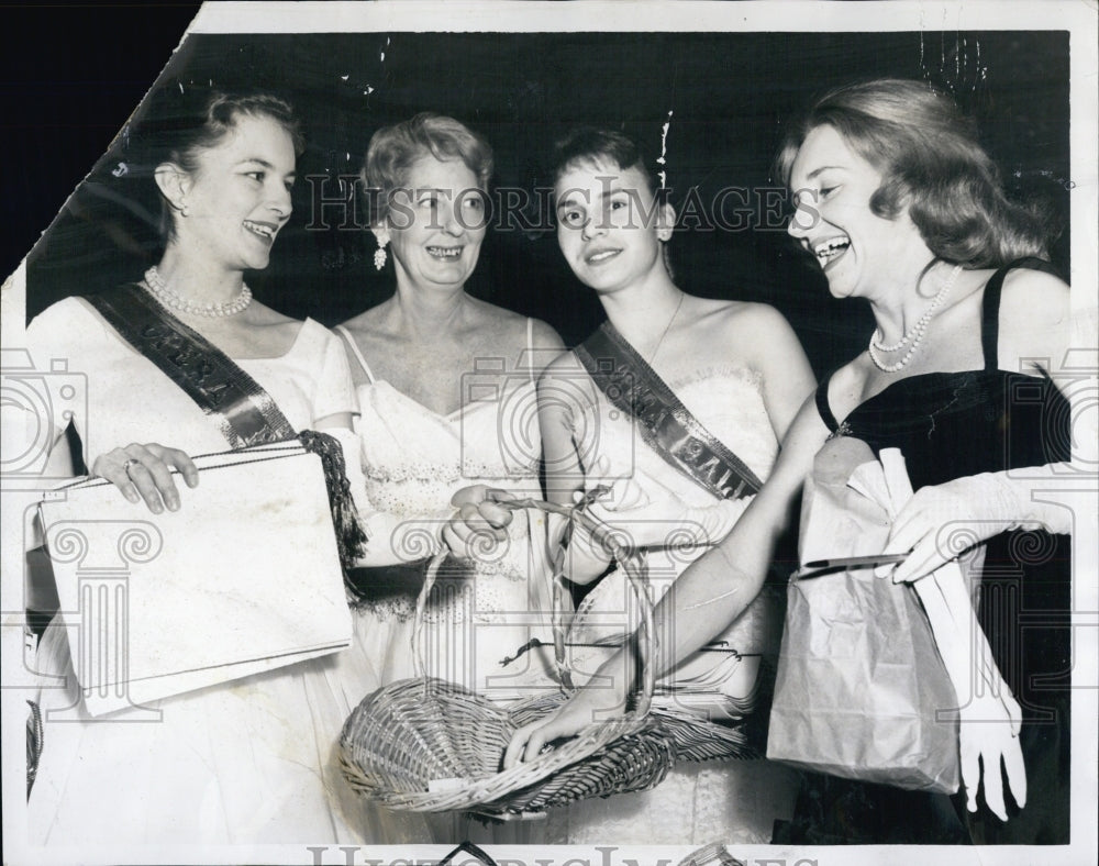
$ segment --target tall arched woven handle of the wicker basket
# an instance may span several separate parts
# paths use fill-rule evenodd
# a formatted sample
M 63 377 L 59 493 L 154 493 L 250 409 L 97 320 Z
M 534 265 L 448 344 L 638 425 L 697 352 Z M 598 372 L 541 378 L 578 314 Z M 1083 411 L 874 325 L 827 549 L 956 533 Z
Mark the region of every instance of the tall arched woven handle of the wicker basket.
M 639 612 L 641 613 L 641 626 L 637 631 L 637 656 L 641 665 L 641 689 L 637 692 L 632 719 L 641 720 L 648 714 L 653 700 L 653 691 L 656 688 L 656 630 L 653 624 L 653 600 L 648 588 L 648 564 L 643 551 L 639 551 L 625 545 L 607 523 L 595 518 L 588 506 L 607 492 L 604 487 L 596 487 L 587 492 L 574 506 L 560 506 L 555 502 L 547 502 L 542 499 L 524 498 L 504 500 L 496 504 L 510 511 L 520 509 L 534 509 L 550 514 L 560 514 L 568 520 L 568 528 L 564 537 L 568 537 L 577 525 L 582 525 L 591 537 L 602 545 L 619 564 L 621 570 L 625 573 L 633 595 L 637 600 Z M 563 539 L 564 541 L 564 539 Z M 566 603 L 569 598 L 568 589 L 563 581 L 565 564 L 565 546 L 558 548 L 553 557 L 553 607 L 551 609 L 551 624 L 554 636 L 554 659 L 560 676 L 562 686 L 566 691 L 574 691 L 571 671 L 565 658 L 565 632 L 566 619 L 571 612 L 571 603 Z M 428 564 L 424 575 L 423 587 L 417 598 L 415 611 L 412 619 L 412 658 L 417 667 L 418 675 L 423 678 L 424 685 L 428 682 L 426 665 L 424 663 L 421 633 L 423 631 L 423 618 L 428 607 L 428 598 L 432 587 L 439 576 L 439 568 L 447 557 L 447 552 L 443 551 L 432 557 Z

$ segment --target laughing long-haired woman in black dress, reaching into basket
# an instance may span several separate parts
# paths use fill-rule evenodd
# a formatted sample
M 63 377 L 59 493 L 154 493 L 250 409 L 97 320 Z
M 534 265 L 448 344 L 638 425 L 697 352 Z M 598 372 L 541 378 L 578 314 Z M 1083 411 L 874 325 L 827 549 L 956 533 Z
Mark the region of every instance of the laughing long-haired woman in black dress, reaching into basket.
M 972 125 L 925 82 L 877 80 L 826 95 L 792 129 L 778 165 L 797 208 L 790 234 L 835 297 L 870 303 L 877 329 L 867 351 L 802 407 L 733 532 L 658 607 L 664 662 L 696 650 L 758 591 L 829 438 L 857 436 L 875 453 L 900 448 L 917 492 L 887 546 L 911 551 L 892 579 L 918 580 L 958 555 L 939 543 L 943 528 L 955 539 L 964 530 L 968 546 L 988 542 L 978 617 L 1022 730 L 1008 709 L 999 723 L 962 724 L 966 802 L 961 792 L 952 803 L 810 777 L 780 839 L 1067 843 L 1072 512 L 1041 501 L 1041 489 L 1058 486 L 1070 456 L 1068 403 L 1051 378 L 1069 346 L 1069 291 L 1041 260 L 1044 226 L 1004 198 Z M 1041 531 L 1009 531 L 1024 525 Z M 1007 598 L 1014 610 L 993 603 Z M 1022 628 L 1028 617 L 1036 628 Z M 536 755 L 622 698 L 580 690 L 546 722 L 519 731 L 507 762 Z M 1002 704 L 1013 709 L 1010 696 Z M 1024 775 L 1039 791 L 1030 799 Z

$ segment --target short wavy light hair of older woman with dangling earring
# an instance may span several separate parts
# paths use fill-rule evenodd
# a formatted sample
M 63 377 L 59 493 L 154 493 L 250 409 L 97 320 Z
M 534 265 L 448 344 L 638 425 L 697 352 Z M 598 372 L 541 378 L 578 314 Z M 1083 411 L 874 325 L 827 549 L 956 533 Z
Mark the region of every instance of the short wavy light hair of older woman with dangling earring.
M 421 112 L 411 120 L 384 126 L 370 136 L 362 179 L 368 189 L 380 193 L 370 199 L 371 223 L 385 219 L 390 197 L 408 185 L 409 169 L 425 156 L 442 162 L 460 159 L 477 176 L 480 190 L 488 192 L 492 148 L 485 137 L 454 118 Z

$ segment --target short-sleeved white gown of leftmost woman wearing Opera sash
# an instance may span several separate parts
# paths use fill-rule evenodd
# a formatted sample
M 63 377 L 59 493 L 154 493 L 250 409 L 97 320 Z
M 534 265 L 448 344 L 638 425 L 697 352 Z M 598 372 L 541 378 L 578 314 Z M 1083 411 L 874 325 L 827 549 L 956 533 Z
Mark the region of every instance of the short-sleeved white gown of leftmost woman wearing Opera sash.
M 69 374 L 85 377 L 87 402 L 69 404 L 87 458 L 131 442 L 191 454 L 227 449 L 217 423 L 82 301 L 51 307 L 31 323 L 26 338 L 40 368 L 64 359 Z M 314 321 L 302 324 L 281 357 L 237 363 L 296 430 L 354 411 L 346 355 Z M 187 508 L 186 488 L 181 499 Z M 27 802 L 33 843 L 354 844 L 424 836 L 414 817 L 356 798 L 335 764 L 344 719 L 378 682 L 354 645 L 157 701 L 151 706 L 162 710 L 159 722 L 126 723 L 122 712 L 51 723 L 51 710 L 79 699 L 56 618 L 37 665 L 55 678 L 41 693 L 44 750 Z M 66 678 L 67 687 L 60 685 Z

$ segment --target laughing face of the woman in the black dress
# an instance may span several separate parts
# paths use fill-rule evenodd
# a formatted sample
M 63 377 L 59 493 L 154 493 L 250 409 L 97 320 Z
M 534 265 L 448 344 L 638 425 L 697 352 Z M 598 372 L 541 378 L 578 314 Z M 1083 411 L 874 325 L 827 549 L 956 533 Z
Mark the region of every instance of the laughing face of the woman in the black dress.
M 817 258 L 837 298 L 874 298 L 932 256 L 907 207 L 891 220 L 870 210 L 880 185 L 881 174 L 833 126 L 814 127 L 793 160 L 797 209 L 788 231 Z

